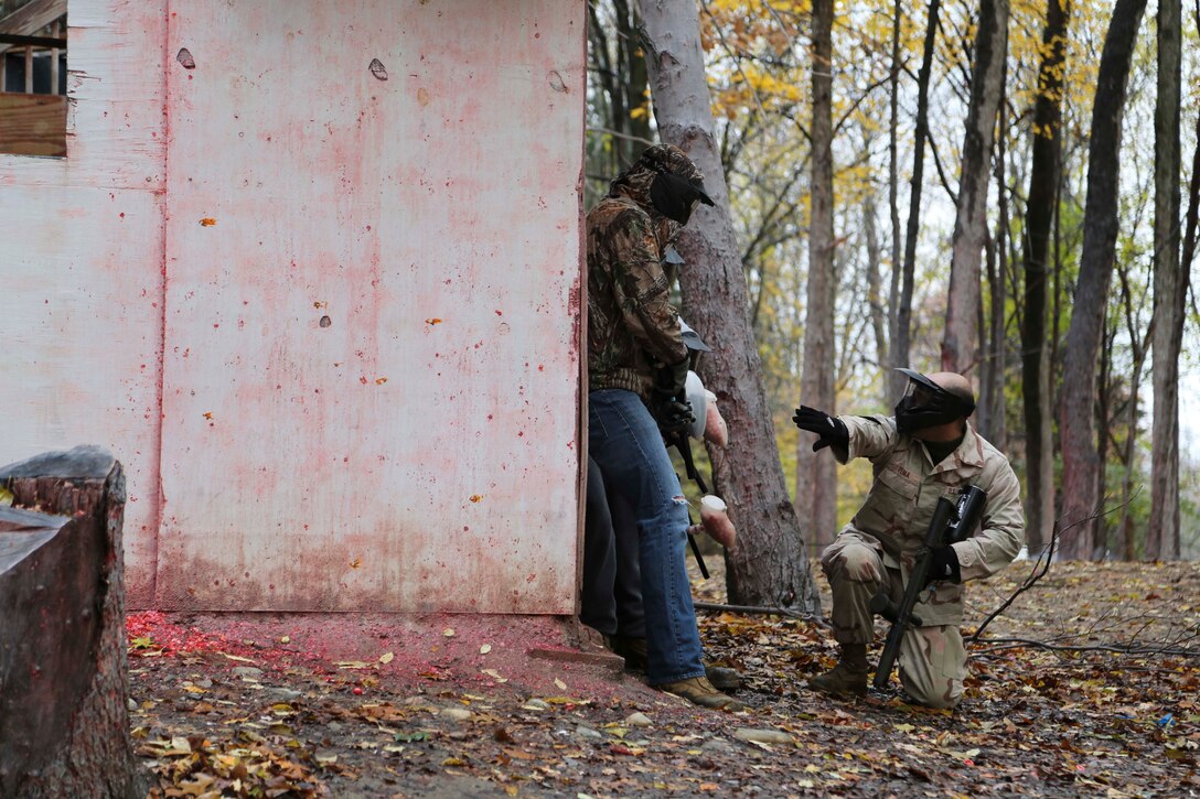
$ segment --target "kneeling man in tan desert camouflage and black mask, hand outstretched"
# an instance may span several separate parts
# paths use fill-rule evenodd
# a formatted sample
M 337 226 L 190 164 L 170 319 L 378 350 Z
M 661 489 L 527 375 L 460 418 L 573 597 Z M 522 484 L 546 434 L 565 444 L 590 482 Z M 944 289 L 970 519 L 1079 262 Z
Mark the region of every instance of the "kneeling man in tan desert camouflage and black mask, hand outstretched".
M 899 371 L 908 386 L 895 416 L 830 416 L 802 405 L 792 417 L 800 429 L 820 435 L 814 451 L 829 446 L 839 463 L 869 458 L 875 470 L 863 506 L 821 555 L 841 657 L 809 687 L 835 696 L 866 693 L 871 597 L 886 590 L 899 601 L 937 499 L 953 501 L 959 489 L 974 485 L 988 492 L 982 529 L 935 551 L 928 591 L 917 603 L 924 625 L 906 630 L 900 647 L 900 684 L 908 696 L 932 708 L 953 708 L 967 673 L 959 635 L 961 584 L 988 577 L 1016 557 L 1025 542 L 1021 488 L 1008 458 L 967 421 L 976 402 L 965 377 Z

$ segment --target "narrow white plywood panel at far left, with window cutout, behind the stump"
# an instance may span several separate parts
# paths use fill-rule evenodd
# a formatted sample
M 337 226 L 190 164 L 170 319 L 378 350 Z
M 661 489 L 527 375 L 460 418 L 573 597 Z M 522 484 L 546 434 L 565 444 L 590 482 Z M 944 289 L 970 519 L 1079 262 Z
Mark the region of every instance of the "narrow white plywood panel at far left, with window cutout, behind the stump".
M 166 4 L 71 0 L 67 157 L 0 155 L 0 461 L 124 463 L 130 603 L 154 596 Z

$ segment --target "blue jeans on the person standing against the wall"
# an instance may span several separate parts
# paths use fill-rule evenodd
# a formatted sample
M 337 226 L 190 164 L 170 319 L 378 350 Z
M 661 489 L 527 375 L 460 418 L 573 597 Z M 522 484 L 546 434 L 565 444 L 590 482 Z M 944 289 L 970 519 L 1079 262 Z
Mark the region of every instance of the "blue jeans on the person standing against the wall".
M 605 489 L 626 500 L 637 521 L 646 681 L 661 685 L 703 677 L 684 561 L 688 504 L 659 427 L 636 394 L 606 389 L 588 396 L 588 450 Z

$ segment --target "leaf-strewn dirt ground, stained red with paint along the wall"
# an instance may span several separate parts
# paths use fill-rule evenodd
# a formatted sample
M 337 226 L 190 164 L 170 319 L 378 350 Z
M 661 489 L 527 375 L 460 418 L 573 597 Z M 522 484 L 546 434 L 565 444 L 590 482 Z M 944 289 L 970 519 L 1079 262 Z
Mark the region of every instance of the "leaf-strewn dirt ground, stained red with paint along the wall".
M 694 590 L 721 602 L 709 565 Z M 965 632 L 1031 567 L 973 583 Z M 133 613 L 134 743 L 158 797 L 1200 795 L 1198 564 L 1054 565 L 971 647 L 953 713 L 806 690 L 820 621 L 700 620 L 748 711 L 540 617 Z

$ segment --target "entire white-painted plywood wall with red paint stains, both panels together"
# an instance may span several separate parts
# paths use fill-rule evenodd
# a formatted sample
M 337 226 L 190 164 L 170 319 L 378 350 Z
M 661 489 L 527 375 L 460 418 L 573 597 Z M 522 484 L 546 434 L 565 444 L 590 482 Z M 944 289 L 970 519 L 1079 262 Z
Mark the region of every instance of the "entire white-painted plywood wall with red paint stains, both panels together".
M 133 605 L 574 612 L 583 13 L 72 0 L 0 459 L 118 453 Z

